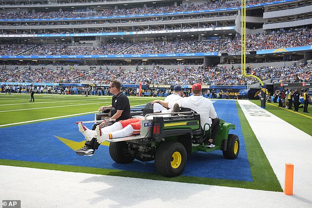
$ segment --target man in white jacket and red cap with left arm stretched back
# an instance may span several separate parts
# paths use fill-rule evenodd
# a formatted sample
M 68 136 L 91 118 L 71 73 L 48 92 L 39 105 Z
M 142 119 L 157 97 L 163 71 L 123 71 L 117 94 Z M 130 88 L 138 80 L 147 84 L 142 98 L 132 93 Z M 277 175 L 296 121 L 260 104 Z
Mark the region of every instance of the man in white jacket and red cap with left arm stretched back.
M 213 144 L 213 140 L 216 138 L 216 134 L 219 126 L 219 119 L 217 117 L 216 110 L 212 102 L 201 96 L 202 87 L 200 83 L 196 83 L 192 86 L 193 95 L 185 97 L 178 101 L 166 102 L 163 100 L 154 100 L 154 103 L 160 103 L 164 107 L 173 108 L 174 104 L 177 103 L 180 107 L 190 108 L 200 115 L 201 127 L 204 131 L 209 130 L 209 126 L 205 124 L 208 123 L 211 126 L 211 135 L 207 143 L 207 147 L 216 147 Z

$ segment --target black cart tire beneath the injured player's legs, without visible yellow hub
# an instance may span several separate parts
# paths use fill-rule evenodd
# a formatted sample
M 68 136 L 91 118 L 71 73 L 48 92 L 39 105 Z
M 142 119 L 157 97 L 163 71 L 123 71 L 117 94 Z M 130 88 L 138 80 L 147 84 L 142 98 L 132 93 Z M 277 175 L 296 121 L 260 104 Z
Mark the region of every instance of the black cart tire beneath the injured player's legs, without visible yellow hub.
M 115 162 L 121 164 L 130 163 L 134 160 L 134 157 L 128 152 L 126 142 L 111 142 L 109 144 L 109 154 Z

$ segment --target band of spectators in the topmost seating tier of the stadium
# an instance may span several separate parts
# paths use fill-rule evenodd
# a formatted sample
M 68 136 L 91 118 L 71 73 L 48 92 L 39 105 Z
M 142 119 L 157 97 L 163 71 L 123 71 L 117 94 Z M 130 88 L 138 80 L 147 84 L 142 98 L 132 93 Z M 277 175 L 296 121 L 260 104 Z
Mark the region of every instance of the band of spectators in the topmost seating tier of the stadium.
M 278 1 L 278 0 L 272 0 Z M 247 0 L 247 5 L 254 5 L 259 3 L 272 2 L 271 0 Z M 171 12 L 184 12 L 184 11 L 199 11 L 199 10 L 213 10 L 219 8 L 233 8 L 240 7 L 241 0 L 208 0 L 203 4 L 186 5 L 160 5 L 151 7 L 132 7 L 132 8 L 116 8 L 90 11 L 47 11 L 47 12 L 16 12 L 16 13 L 3 13 L 0 15 L 1 19 L 50 19 L 50 18 L 75 18 L 75 17 L 107 17 L 118 15 L 142 15 L 142 14 L 158 14 L 158 13 L 171 13 Z

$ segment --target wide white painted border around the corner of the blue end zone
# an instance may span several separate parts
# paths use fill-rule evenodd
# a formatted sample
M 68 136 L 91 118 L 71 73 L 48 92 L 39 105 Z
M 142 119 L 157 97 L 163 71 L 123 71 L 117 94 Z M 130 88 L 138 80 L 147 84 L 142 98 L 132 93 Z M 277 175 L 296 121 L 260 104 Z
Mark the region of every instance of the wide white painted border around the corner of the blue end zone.
M 293 195 L 213 185 L 0 166 L 1 199 L 22 207 L 312 207 L 312 137 L 249 100 L 238 100 L 281 187 L 294 164 Z M 272 125 L 276 128 L 271 128 Z M 279 129 L 277 132 L 276 129 Z

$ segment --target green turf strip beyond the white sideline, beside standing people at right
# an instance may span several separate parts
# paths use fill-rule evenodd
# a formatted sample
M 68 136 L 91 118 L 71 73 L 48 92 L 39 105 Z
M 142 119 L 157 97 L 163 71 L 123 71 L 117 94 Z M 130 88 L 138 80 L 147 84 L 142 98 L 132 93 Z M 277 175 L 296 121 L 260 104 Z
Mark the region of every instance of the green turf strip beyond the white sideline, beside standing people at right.
M 258 106 L 261 106 L 259 100 L 250 101 L 257 104 Z M 292 107 L 292 109 L 294 109 L 294 107 Z M 279 107 L 279 103 L 266 103 L 265 110 L 312 136 L 311 105 L 308 106 L 308 112 L 310 113 L 303 113 L 303 108 L 299 108 L 298 112 L 294 112 L 294 110 L 284 109 Z

